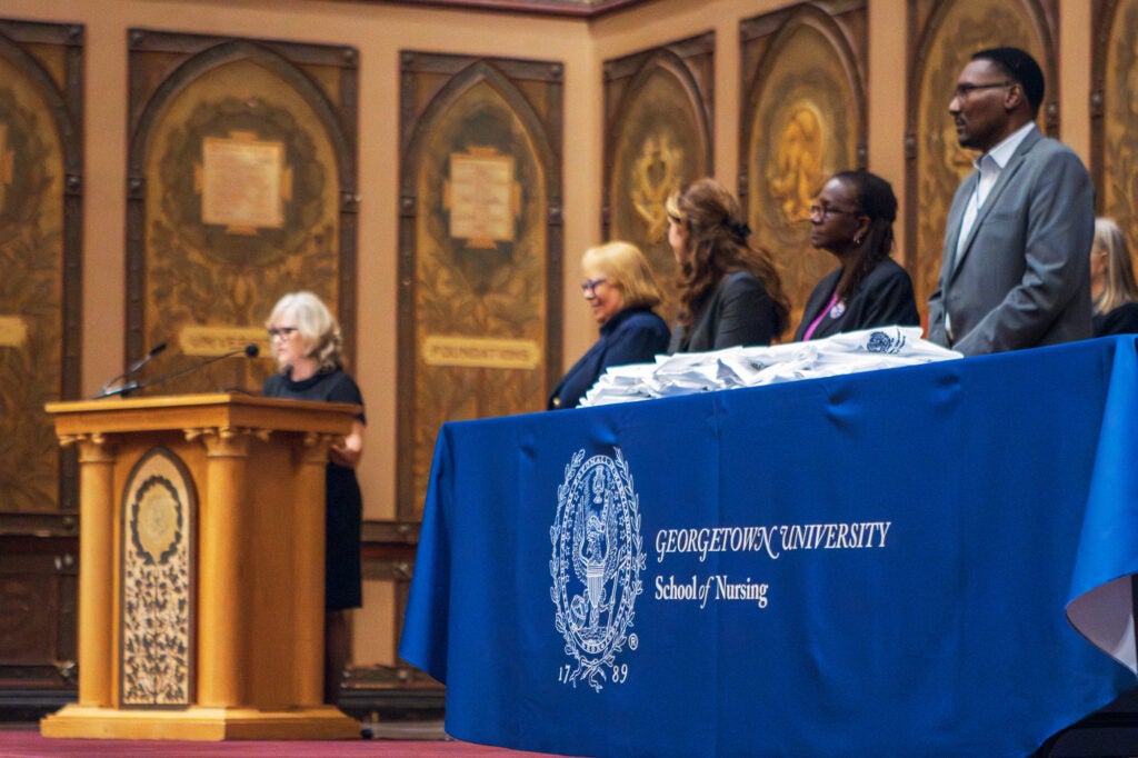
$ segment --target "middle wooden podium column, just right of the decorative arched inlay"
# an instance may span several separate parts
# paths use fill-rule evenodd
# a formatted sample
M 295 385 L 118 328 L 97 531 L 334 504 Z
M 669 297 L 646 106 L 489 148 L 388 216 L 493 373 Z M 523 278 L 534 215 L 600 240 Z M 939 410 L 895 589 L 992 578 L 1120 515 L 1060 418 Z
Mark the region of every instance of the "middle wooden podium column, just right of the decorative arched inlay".
M 244 535 L 248 509 L 246 467 L 249 436 L 244 430 L 207 429 L 188 432 L 206 446 L 206 496 L 200 513 L 198 595 L 198 703 L 236 708 L 248 702 L 245 660 L 247 627 L 238 623 L 248 608 L 248 577 L 244 567 L 248 545 Z M 208 578 L 205 576 L 208 574 Z

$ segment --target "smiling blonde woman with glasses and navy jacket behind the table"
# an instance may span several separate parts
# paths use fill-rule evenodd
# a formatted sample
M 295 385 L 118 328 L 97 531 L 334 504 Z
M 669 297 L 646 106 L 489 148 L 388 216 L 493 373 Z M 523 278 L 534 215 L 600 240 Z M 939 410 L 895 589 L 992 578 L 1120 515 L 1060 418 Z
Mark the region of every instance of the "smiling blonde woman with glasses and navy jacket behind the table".
M 644 255 L 629 242 L 593 247 L 582 257 L 582 295 L 601 328 L 596 343 L 550 396 L 550 410 L 576 407 L 611 365 L 648 363 L 668 347 L 668 324 L 652 308 L 662 300 Z

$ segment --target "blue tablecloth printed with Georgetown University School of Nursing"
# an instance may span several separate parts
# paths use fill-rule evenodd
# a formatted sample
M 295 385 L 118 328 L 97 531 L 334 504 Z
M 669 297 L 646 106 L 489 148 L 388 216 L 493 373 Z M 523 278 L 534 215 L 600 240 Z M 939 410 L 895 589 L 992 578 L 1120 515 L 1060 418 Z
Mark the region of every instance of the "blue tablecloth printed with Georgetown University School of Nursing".
M 1136 359 L 448 423 L 399 653 L 472 742 L 1026 755 L 1135 684 Z

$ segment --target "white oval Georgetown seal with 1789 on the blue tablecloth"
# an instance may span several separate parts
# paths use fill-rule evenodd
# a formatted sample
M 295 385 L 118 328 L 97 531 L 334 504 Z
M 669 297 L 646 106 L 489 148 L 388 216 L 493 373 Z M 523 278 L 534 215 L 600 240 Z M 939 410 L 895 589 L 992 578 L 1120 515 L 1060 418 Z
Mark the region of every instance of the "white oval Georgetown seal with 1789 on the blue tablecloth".
M 574 686 L 588 682 L 600 692 L 604 681 L 628 678 L 628 665 L 618 664 L 617 654 L 626 644 L 637 646 L 628 629 L 643 592 L 644 551 L 633 478 L 620 451 L 615 460 L 584 459 L 583 450 L 574 454 L 558 487 L 550 596 L 556 605 L 554 626 L 576 662 L 576 668 L 566 664 L 558 678 Z

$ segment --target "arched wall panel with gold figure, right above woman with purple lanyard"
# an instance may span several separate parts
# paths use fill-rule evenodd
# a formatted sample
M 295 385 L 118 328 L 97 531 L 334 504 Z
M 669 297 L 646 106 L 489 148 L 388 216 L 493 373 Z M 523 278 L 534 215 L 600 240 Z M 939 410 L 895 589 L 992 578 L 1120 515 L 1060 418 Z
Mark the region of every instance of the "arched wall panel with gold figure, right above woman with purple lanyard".
M 865 3 L 811 2 L 742 22 L 739 192 L 754 241 L 778 262 L 791 329 L 835 267 L 810 247 L 825 180 L 866 160 Z

